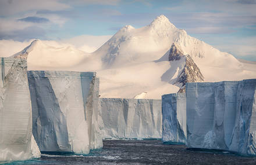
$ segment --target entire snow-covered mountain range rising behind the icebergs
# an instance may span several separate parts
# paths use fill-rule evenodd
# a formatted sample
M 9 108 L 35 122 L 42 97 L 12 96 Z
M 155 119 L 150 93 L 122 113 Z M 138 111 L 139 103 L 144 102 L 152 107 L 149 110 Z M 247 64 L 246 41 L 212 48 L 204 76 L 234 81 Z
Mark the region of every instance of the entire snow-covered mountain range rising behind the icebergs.
M 93 53 L 37 40 L 15 56 L 27 56 L 30 70 L 96 71 L 101 97 L 161 98 L 186 82 L 256 77 L 255 64 L 187 35 L 163 15 L 145 27 L 126 25 Z

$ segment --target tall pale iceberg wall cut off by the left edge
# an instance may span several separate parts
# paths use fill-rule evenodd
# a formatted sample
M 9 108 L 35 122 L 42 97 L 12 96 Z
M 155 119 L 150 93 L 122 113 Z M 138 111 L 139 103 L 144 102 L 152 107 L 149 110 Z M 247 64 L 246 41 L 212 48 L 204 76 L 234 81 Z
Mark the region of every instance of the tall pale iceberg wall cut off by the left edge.
M 0 164 L 40 157 L 32 134 L 27 62 L 0 58 Z

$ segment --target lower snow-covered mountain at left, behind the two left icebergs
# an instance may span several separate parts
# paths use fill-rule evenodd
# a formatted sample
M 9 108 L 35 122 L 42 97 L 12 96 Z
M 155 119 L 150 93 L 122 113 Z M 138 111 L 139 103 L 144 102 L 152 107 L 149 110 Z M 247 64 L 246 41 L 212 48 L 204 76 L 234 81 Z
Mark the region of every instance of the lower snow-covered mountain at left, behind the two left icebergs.
M 36 39 L 14 56 L 20 58 L 28 57 L 27 64 L 30 70 L 66 70 L 77 65 L 84 58 L 88 58 L 90 54 L 71 46 L 52 47 Z

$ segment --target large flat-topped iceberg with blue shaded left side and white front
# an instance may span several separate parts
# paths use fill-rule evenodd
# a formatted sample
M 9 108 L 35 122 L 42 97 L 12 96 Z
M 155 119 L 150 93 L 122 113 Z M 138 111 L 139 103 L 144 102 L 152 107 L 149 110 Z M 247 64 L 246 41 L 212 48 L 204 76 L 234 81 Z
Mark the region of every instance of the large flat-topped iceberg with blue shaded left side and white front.
M 40 151 L 89 153 L 102 147 L 95 72 L 29 71 L 27 76 Z

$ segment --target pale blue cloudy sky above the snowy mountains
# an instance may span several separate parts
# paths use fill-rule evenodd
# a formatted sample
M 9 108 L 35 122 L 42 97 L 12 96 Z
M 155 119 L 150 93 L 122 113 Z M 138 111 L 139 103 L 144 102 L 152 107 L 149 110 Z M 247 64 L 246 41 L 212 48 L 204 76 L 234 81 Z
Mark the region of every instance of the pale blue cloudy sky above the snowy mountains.
M 256 0 L 1 0 L 0 40 L 69 41 L 91 52 L 123 26 L 163 14 L 187 34 L 256 61 L 255 9 Z

